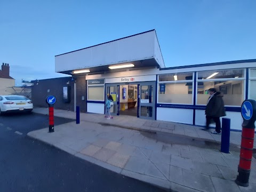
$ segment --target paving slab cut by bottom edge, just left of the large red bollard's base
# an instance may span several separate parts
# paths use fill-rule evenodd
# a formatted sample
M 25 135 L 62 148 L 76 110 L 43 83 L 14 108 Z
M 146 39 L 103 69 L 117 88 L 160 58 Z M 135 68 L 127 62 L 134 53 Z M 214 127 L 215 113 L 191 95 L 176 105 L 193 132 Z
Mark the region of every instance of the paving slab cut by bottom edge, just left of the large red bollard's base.
M 212 177 L 211 179 L 215 190 L 218 192 L 239 191 L 239 188 L 234 181 L 220 179 L 216 177 Z

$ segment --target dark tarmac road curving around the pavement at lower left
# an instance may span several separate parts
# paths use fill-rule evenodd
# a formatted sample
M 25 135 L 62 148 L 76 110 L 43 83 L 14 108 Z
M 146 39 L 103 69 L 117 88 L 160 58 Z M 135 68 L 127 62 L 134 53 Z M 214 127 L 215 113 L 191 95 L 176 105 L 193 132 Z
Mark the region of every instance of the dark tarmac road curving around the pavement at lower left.
M 26 137 L 48 126 L 46 115 L 0 116 L 0 191 L 164 191 Z

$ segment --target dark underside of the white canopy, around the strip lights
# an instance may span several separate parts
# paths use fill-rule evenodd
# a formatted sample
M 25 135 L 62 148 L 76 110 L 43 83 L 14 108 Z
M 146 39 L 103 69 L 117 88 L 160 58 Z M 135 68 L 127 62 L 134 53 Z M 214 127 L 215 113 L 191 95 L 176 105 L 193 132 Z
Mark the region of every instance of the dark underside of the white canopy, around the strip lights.
M 121 68 L 123 70 L 126 69 L 136 69 L 136 68 L 142 68 L 142 67 L 159 67 L 158 63 L 156 62 L 156 60 L 153 59 L 147 59 L 147 60 L 139 60 L 139 61 L 132 61 L 132 62 L 127 62 L 127 63 L 117 63 L 117 64 L 111 64 L 111 65 L 106 65 L 106 66 L 98 66 L 98 67 L 89 67 L 86 69 L 90 70 L 90 73 L 81 73 L 81 74 L 74 74 L 75 76 L 81 76 L 81 75 L 85 75 L 85 74 L 97 74 L 97 73 L 103 73 L 103 72 L 115 72 L 115 71 L 119 71 L 121 69 L 109 69 L 109 66 L 114 66 L 114 65 L 125 65 L 125 64 L 130 64 L 132 63 L 134 65 L 134 67 L 127 67 L 127 68 Z M 78 70 L 78 69 L 77 69 Z M 67 75 L 72 75 L 72 71 L 73 70 L 68 70 L 68 71 L 61 71 L 58 73 L 62 73 L 62 74 L 67 74 Z

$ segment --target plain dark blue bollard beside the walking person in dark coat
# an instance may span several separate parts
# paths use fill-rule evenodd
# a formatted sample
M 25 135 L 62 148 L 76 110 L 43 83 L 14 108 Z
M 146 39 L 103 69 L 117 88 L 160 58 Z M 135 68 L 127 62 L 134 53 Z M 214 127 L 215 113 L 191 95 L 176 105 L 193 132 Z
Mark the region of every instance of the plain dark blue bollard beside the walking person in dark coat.
M 222 118 L 221 129 L 221 148 L 222 153 L 229 153 L 229 141 L 230 141 L 230 119 Z

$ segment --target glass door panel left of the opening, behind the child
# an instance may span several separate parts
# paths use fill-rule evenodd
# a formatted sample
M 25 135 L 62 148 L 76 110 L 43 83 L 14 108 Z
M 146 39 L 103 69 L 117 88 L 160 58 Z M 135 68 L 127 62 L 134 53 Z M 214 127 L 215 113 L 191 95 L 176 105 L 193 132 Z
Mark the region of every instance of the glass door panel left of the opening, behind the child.
M 111 95 L 113 98 L 114 106 L 110 108 L 111 115 L 119 115 L 119 98 L 118 98 L 118 85 L 111 85 L 106 84 L 106 97 L 105 97 L 105 103 L 107 101 L 108 95 Z M 107 111 L 105 107 L 105 111 Z

